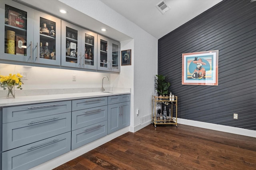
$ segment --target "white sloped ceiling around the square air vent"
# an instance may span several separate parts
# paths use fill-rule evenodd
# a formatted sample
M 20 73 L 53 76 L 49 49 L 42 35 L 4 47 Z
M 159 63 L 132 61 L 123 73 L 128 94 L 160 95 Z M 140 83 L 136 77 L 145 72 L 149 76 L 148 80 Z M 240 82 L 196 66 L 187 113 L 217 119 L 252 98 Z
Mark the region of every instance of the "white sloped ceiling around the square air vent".
M 222 0 L 166 0 L 170 10 L 162 14 L 161 0 L 101 0 L 157 39 L 170 33 Z

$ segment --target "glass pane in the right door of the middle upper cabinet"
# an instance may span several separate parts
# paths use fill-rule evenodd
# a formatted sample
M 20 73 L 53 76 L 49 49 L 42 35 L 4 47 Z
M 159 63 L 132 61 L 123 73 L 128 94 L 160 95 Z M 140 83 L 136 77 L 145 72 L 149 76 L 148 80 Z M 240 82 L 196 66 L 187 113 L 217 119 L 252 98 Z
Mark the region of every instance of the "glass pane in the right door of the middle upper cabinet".
M 84 50 L 84 63 L 87 65 L 94 65 L 94 36 L 85 34 L 85 50 Z

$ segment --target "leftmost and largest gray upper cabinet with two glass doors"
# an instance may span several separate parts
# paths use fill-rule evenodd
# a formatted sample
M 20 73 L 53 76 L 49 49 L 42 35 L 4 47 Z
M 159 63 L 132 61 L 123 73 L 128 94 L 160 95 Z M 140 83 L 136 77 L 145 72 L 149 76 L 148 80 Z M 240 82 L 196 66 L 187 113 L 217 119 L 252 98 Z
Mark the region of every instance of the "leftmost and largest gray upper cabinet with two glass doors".
M 13 1 L 0 10 L 0 59 L 60 65 L 60 19 Z

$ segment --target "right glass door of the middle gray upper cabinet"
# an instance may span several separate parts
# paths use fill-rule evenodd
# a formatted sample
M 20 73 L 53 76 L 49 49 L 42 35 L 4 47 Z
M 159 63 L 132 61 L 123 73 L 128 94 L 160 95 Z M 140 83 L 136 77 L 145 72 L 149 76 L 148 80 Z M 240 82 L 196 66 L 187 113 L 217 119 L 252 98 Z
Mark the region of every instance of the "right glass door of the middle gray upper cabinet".
M 84 68 L 97 69 L 97 34 L 85 30 L 84 32 Z

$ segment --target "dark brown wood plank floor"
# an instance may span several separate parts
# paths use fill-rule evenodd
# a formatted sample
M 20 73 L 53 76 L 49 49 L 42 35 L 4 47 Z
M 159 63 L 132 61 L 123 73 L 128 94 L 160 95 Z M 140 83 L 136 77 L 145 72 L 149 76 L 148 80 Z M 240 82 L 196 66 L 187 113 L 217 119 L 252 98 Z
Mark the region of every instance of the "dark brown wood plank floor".
M 256 170 L 256 138 L 187 125 L 128 132 L 54 170 Z

